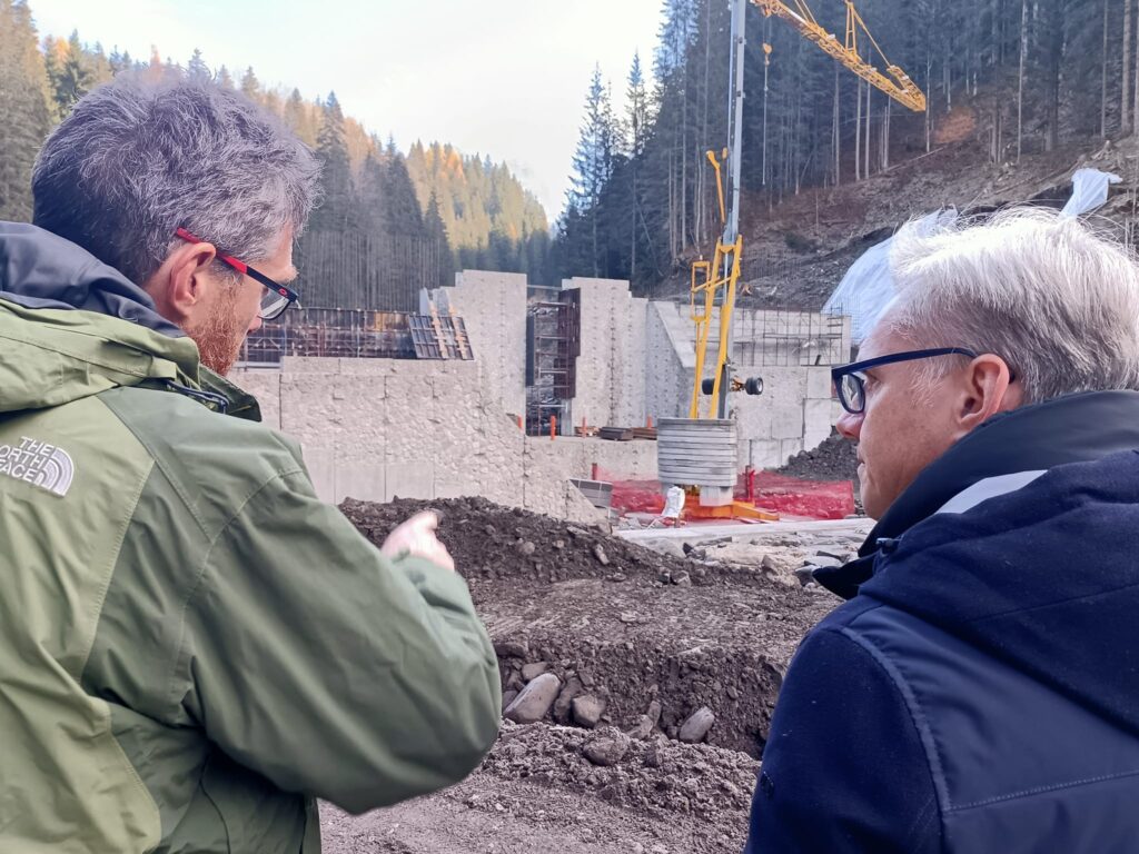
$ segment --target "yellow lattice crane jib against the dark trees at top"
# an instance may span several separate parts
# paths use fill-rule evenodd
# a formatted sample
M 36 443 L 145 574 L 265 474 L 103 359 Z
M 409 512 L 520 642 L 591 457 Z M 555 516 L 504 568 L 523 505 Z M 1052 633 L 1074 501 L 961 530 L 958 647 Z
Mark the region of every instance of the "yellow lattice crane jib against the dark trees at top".
M 875 89 L 882 90 L 895 101 L 904 107 L 909 107 L 915 113 L 925 112 L 925 93 L 918 89 L 917 84 L 910 80 L 909 75 L 904 71 L 886 59 L 886 55 L 882 52 L 882 48 L 878 47 L 878 42 L 875 41 L 874 35 L 866 25 L 866 22 L 862 20 L 862 16 L 859 15 L 858 9 L 854 8 L 852 0 L 845 0 L 845 43 L 839 43 L 838 39 L 833 33 L 828 33 L 822 28 L 819 22 L 814 19 L 814 15 L 811 14 L 811 9 L 803 0 L 792 0 L 794 8 L 782 2 L 782 0 L 751 0 L 751 2 L 768 17 L 775 15 L 776 17 L 782 18 L 789 23 L 805 38 L 813 41 L 829 56 L 837 59 L 844 66 L 854 72 L 854 74 L 858 74 Z M 875 66 L 870 65 L 870 63 L 866 61 L 859 54 L 859 33 L 862 33 L 870 40 L 874 49 L 878 52 L 878 56 L 882 57 L 883 63 L 886 65 L 886 74 L 890 75 L 888 77 L 886 74 L 879 72 Z

